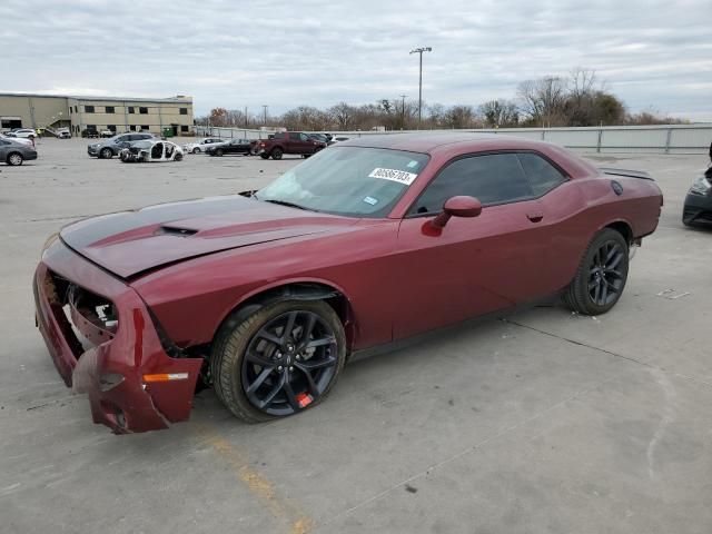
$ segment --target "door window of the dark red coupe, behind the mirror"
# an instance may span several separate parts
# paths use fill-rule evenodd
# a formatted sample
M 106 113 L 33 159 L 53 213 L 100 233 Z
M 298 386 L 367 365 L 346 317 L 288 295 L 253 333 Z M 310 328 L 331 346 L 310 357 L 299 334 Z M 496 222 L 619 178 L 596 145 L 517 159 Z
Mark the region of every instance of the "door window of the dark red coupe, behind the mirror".
M 448 198 L 466 195 L 483 206 L 532 197 L 532 188 L 515 154 L 473 156 L 453 161 L 427 186 L 411 214 L 433 214 Z

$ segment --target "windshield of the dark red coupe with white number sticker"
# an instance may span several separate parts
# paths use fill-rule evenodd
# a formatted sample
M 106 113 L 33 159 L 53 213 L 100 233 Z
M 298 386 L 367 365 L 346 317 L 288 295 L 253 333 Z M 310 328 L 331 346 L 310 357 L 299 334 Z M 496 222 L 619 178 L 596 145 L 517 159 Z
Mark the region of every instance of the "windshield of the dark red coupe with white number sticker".
M 352 217 L 386 216 L 429 157 L 364 147 L 329 147 L 255 195 L 258 200 Z

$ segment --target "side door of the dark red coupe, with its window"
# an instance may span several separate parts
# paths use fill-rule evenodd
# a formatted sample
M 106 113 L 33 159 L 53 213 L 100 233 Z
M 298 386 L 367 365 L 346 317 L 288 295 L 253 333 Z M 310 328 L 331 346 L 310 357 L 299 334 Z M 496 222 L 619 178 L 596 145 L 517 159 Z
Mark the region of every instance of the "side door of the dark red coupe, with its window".
M 478 198 L 482 214 L 432 221 L 448 198 Z M 398 231 L 400 301 L 394 337 L 514 306 L 542 293 L 541 205 L 515 154 L 448 162 L 411 207 Z

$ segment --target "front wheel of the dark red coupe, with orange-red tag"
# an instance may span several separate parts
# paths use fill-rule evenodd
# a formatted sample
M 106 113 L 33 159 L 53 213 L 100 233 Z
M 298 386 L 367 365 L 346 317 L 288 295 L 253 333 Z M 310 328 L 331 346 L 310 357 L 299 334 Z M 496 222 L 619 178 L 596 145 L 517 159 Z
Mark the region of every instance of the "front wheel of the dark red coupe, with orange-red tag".
M 228 318 L 214 344 L 215 392 L 237 417 L 258 423 L 319 404 L 346 360 L 344 327 L 322 300 L 286 300 Z

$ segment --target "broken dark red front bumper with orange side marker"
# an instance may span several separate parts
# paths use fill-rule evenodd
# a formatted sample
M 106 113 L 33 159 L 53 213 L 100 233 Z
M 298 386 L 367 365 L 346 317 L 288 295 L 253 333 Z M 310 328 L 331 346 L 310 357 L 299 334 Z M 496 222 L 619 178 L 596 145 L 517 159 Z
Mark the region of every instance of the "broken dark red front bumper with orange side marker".
M 67 386 L 88 394 L 95 423 L 126 434 L 188 419 L 202 359 L 166 353 L 136 290 L 59 239 L 44 250 L 33 289 L 50 356 Z

